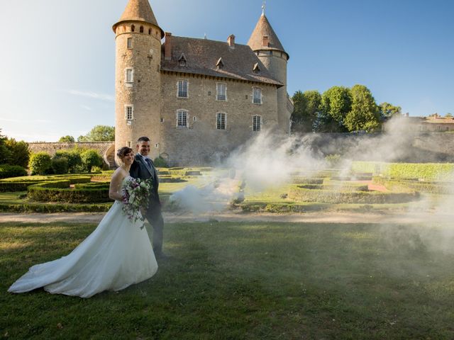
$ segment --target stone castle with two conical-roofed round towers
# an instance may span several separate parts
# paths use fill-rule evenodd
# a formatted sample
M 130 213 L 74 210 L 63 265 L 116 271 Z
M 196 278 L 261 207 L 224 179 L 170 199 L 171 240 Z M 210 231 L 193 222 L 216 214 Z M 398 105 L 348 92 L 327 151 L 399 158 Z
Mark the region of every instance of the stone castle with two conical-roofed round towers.
M 148 0 L 129 0 L 113 30 L 116 149 L 148 136 L 151 157 L 201 165 L 262 130 L 289 133 L 289 55 L 264 11 L 248 45 L 164 33 Z

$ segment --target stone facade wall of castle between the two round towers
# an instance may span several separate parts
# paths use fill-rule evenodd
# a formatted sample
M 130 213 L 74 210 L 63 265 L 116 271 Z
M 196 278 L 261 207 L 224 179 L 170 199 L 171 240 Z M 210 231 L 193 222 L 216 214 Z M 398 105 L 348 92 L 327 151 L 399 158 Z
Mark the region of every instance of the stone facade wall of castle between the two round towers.
M 177 82 L 187 80 L 188 98 L 177 98 Z M 216 100 L 216 84 L 226 84 L 226 101 Z M 253 87 L 262 90 L 262 104 L 253 103 Z M 253 132 L 253 115 L 262 129 L 277 127 L 275 86 L 162 74 L 162 143 L 160 154 L 170 165 L 205 165 L 224 159 L 260 132 Z M 187 110 L 188 127 L 177 127 L 177 111 Z M 226 130 L 217 130 L 217 113 L 226 113 Z M 152 145 L 154 147 L 154 145 Z

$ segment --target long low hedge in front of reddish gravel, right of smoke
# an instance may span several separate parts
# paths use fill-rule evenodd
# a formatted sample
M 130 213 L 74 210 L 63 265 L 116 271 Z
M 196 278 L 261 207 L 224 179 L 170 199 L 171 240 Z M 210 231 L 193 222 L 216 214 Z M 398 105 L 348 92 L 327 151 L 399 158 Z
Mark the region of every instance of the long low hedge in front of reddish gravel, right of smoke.
M 311 190 L 294 186 L 289 198 L 300 202 L 319 203 L 406 203 L 419 198 L 419 193 L 382 193 L 377 191 L 330 191 Z

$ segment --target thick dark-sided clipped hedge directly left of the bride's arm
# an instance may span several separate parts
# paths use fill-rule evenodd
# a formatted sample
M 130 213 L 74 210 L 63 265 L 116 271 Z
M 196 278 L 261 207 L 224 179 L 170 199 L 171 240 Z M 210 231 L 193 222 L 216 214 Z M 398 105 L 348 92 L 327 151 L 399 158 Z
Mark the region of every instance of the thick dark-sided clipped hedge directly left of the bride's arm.
M 109 202 L 109 188 L 69 188 L 70 181 L 38 183 L 28 187 L 27 197 L 39 202 Z

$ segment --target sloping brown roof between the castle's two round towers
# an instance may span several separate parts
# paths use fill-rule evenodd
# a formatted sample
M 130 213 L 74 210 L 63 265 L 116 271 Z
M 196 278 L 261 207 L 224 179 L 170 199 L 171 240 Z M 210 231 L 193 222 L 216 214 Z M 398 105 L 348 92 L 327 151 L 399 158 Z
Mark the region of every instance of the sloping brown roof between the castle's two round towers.
M 170 41 L 171 60 L 165 60 L 165 45 L 162 45 L 162 71 L 202 74 L 283 86 L 272 77 L 248 45 L 235 44 L 234 47 L 230 47 L 227 42 L 175 35 L 170 37 Z M 178 60 L 182 55 L 186 59 L 186 66 L 179 65 Z M 220 59 L 223 64 L 221 68 L 216 66 Z M 255 64 L 258 64 L 260 72 L 253 71 Z

